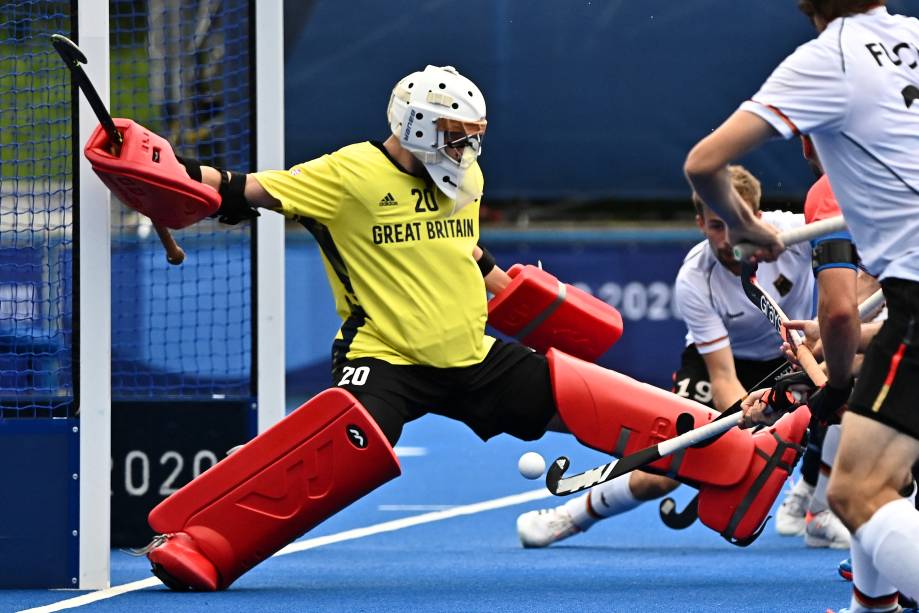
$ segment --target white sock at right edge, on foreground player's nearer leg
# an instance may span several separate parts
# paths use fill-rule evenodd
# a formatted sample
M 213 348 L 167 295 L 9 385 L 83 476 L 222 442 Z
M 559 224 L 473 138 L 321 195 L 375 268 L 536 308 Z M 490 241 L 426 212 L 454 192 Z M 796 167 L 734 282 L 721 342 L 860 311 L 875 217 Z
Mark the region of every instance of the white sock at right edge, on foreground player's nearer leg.
M 899 498 L 882 506 L 853 540 L 884 578 L 907 596 L 919 596 L 919 511 L 909 500 Z

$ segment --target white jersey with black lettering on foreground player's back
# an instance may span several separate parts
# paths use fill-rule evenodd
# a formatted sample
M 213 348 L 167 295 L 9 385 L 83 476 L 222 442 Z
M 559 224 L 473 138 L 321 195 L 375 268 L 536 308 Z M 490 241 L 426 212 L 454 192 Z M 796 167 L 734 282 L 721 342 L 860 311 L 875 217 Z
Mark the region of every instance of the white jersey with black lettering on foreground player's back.
M 740 108 L 810 134 L 862 262 L 919 281 L 919 20 L 837 18 Z

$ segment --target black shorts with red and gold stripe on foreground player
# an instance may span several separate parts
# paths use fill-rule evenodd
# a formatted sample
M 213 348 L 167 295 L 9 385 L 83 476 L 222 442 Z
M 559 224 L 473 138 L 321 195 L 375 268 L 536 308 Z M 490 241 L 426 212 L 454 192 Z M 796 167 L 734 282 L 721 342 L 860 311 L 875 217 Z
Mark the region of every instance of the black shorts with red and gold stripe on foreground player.
M 887 321 L 868 345 L 849 410 L 919 439 L 919 283 L 881 282 Z

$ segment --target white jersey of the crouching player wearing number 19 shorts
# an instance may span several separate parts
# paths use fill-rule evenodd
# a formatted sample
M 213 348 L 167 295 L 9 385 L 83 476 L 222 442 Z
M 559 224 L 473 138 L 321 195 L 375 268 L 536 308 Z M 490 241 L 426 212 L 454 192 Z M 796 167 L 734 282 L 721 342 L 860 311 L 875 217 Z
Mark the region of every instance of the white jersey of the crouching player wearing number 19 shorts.
M 804 216 L 768 211 L 763 220 L 779 231 L 804 225 Z M 778 260 L 759 265 L 756 278 L 792 319 L 812 316 L 814 275 L 810 244 L 793 245 Z M 740 277 L 718 262 L 708 241 L 692 248 L 677 273 L 674 300 L 688 330 L 686 344 L 699 353 L 730 347 L 734 357 L 771 360 L 782 355 L 775 328 L 750 302 Z

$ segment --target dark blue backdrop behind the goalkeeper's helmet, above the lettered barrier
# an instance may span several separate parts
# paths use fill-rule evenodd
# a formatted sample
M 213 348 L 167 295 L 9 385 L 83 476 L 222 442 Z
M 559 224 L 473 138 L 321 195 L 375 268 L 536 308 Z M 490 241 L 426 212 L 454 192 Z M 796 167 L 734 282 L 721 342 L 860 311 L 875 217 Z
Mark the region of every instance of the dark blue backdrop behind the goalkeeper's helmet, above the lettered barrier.
M 794 0 L 306 4 L 288 19 L 288 162 L 386 136 L 393 84 L 451 64 L 488 101 L 492 199 L 685 198 L 690 147 L 814 36 Z M 797 145 L 745 162 L 767 197 L 812 180 Z

